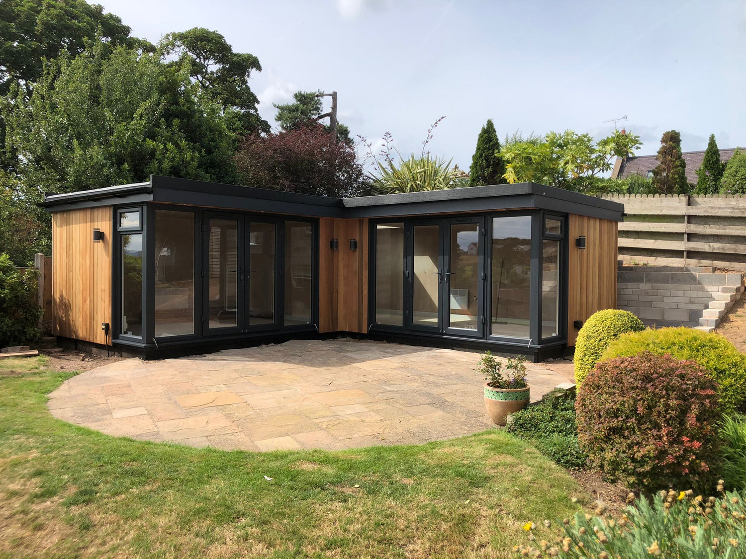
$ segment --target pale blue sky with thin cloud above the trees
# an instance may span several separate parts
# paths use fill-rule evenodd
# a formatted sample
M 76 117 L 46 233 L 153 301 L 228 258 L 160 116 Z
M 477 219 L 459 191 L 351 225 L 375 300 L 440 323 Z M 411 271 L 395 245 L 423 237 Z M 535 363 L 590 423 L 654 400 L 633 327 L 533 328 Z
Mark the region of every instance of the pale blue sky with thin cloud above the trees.
M 468 169 L 492 119 L 600 139 L 615 123 L 654 154 L 746 146 L 746 1 L 98 0 L 132 33 L 218 31 L 257 56 L 260 114 L 298 90 L 339 95 L 339 121 L 408 157 L 427 149 Z M 328 101 L 327 101 L 328 104 Z M 364 151 L 364 148 L 361 148 Z M 374 147 L 374 151 L 378 151 Z

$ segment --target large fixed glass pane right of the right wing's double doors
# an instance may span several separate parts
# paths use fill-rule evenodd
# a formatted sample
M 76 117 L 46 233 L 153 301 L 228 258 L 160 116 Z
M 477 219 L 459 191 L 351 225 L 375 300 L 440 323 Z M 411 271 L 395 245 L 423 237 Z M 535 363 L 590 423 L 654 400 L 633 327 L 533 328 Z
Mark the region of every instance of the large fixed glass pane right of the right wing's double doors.
M 528 338 L 531 216 L 492 219 L 492 335 Z

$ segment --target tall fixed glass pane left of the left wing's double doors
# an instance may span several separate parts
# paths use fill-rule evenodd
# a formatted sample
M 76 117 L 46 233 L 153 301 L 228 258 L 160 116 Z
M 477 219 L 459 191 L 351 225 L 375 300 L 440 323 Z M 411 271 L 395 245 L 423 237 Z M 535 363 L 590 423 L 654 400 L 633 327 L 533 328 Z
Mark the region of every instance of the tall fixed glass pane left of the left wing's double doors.
M 155 337 L 194 333 L 194 214 L 155 210 Z

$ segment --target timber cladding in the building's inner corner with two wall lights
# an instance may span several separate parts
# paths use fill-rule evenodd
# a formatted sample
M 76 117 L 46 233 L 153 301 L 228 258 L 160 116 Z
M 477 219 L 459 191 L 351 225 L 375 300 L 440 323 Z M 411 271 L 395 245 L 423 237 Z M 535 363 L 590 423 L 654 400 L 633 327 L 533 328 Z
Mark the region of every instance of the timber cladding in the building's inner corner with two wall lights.
M 337 239 L 338 248 L 330 242 Z M 357 250 L 350 241 L 357 241 Z M 368 329 L 368 220 L 319 220 L 319 332 Z

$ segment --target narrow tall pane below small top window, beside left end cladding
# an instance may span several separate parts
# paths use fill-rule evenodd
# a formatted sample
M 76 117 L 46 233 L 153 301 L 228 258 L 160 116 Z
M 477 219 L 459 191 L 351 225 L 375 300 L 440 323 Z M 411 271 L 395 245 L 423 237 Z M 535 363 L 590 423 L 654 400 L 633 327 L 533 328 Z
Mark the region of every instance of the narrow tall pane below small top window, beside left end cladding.
M 122 235 L 122 334 L 142 338 L 142 233 Z

